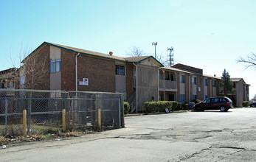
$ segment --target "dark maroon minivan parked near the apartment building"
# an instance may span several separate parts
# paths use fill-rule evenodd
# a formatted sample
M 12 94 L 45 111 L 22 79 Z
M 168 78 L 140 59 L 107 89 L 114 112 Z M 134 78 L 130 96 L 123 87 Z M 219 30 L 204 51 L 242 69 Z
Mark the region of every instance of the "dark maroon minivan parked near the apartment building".
M 210 97 L 194 105 L 196 111 L 221 110 L 221 112 L 226 112 L 229 108 L 233 108 L 232 100 L 226 96 Z

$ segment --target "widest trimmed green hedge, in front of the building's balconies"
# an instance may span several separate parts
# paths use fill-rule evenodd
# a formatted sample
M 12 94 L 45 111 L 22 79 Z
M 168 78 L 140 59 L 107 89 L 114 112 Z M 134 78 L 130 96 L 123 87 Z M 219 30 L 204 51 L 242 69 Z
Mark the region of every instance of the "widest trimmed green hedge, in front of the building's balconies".
M 159 102 L 144 102 L 143 110 L 145 113 L 156 113 L 165 112 L 165 109 L 172 110 L 172 102 L 169 101 L 159 101 Z

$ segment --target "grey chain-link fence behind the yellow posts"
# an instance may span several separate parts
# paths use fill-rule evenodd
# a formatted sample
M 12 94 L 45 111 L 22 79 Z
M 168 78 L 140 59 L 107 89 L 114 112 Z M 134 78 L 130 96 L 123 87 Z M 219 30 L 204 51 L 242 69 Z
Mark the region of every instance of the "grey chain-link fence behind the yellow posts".
M 63 129 L 63 115 L 66 130 L 124 127 L 122 95 L 0 89 L 0 135 L 23 135 L 24 122 L 27 133 L 56 132 Z

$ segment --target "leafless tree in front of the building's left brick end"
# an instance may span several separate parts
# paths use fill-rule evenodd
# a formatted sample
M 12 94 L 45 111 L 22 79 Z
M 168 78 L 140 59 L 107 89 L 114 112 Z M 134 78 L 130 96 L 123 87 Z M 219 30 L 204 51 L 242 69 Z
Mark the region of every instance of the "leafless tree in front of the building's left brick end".
M 17 67 L 15 77 L 19 80 L 20 88 L 35 89 L 42 86 L 45 87 L 45 79 L 49 76 L 49 56 L 45 53 L 40 53 L 40 49 L 32 53 L 30 51 L 32 50 L 23 48 L 21 43 L 21 49 L 18 54 L 16 56 L 10 54 L 11 63 Z

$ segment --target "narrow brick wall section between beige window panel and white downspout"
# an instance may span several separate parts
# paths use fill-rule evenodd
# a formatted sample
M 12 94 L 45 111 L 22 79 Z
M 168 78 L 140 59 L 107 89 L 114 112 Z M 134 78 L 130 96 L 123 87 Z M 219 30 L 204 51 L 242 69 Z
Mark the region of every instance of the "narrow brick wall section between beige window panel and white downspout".
M 60 71 L 61 71 L 61 90 L 75 91 L 75 52 L 61 49 L 60 52 Z

